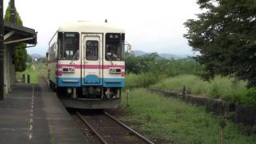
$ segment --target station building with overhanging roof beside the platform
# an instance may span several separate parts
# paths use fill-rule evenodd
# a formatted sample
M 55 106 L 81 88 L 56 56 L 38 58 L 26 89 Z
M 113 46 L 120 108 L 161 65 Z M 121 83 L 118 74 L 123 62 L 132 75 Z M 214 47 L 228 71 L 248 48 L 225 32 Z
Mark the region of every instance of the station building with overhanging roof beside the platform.
M 10 0 L 10 22 L 3 22 L 3 19 L 1 20 L 1 23 L 4 25 L 4 47 L 2 54 L 0 54 L 0 57 L 3 59 L 3 67 L 0 67 L 0 69 L 3 69 L 4 82 L 2 87 L 4 94 L 0 94 L 0 99 L 6 98 L 6 94 L 12 91 L 15 84 L 14 55 L 15 49 L 18 49 L 18 44 L 21 42 L 29 46 L 36 46 L 37 44 L 37 32 L 34 29 L 14 24 L 15 14 L 14 0 Z

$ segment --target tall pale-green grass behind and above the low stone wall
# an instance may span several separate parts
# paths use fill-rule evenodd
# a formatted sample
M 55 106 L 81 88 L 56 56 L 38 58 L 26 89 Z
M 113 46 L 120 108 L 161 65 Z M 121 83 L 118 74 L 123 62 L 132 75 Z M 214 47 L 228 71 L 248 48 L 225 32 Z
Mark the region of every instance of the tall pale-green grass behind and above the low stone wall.
M 230 102 L 239 102 L 247 106 L 256 106 L 256 89 L 246 89 L 246 82 L 234 78 L 216 77 L 211 82 L 203 81 L 193 74 L 182 74 L 170 78 L 156 77 L 156 74 L 128 74 L 126 88 L 156 87 L 180 92 L 187 87 L 188 94 L 197 94 L 209 98 L 221 98 Z

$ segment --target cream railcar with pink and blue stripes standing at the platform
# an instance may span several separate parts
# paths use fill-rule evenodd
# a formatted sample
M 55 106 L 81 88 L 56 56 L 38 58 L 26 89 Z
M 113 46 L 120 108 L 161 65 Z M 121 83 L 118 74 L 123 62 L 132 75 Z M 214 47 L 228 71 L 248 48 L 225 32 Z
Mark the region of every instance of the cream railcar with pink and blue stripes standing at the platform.
M 50 88 L 63 105 L 116 108 L 125 86 L 125 30 L 108 22 L 60 26 L 47 51 Z

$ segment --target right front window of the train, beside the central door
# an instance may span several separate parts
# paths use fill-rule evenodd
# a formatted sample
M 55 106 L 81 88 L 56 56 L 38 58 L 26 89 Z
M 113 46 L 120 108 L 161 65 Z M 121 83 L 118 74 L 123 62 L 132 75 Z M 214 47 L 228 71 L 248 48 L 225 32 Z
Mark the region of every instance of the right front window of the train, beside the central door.
M 125 34 L 106 34 L 106 61 L 123 61 Z

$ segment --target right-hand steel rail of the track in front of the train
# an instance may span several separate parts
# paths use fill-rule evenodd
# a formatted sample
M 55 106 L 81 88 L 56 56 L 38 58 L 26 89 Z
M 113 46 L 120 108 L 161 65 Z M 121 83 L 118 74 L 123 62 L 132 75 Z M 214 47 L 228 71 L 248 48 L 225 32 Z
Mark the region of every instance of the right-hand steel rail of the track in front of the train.
M 121 121 L 119 121 L 118 119 L 114 118 L 112 115 L 108 114 L 106 111 L 103 111 L 104 114 L 106 114 L 109 118 L 113 119 L 115 122 L 117 122 L 119 125 L 123 126 L 126 128 L 126 130 L 130 131 L 133 134 L 136 134 L 138 136 L 138 138 L 141 138 L 144 142 L 146 143 L 150 143 L 150 144 L 154 144 L 154 142 L 151 142 L 149 139 L 145 138 L 144 136 L 142 136 L 142 134 L 138 134 L 137 131 L 131 129 L 129 126 L 126 126 L 124 123 L 122 123 Z

